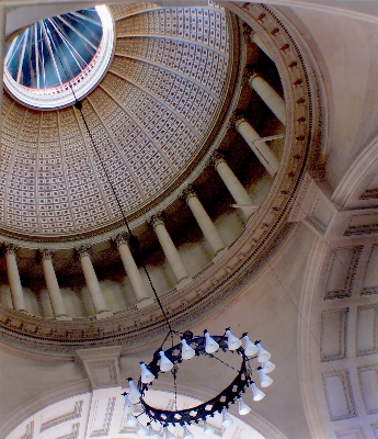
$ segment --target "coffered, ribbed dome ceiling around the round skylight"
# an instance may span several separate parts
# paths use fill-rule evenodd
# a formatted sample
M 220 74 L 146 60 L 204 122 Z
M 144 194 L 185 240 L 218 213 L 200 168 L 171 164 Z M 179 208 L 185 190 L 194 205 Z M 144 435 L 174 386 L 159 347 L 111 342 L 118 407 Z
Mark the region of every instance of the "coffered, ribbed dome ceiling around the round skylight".
M 234 75 L 230 12 L 213 2 L 140 8 L 111 8 L 113 59 L 82 99 L 128 218 L 172 192 L 204 157 L 231 99 Z M 71 83 L 73 90 L 80 87 Z M 38 110 L 7 94 L 0 154 L 1 234 L 68 240 L 122 223 L 73 106 Z

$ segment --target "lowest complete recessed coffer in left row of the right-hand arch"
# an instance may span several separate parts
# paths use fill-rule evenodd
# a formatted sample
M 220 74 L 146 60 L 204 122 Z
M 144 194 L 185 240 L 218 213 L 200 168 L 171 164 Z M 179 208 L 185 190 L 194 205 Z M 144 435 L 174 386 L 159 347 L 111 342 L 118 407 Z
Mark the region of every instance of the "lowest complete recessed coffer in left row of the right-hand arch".
M 358 416 L 352 392 L 350 371 L 342 369 L 327 372 L 322 374 L 322 378 L 331 420 L 350 419 Z M 344 403 L 344 413 L 340 413 L 342 402 Z

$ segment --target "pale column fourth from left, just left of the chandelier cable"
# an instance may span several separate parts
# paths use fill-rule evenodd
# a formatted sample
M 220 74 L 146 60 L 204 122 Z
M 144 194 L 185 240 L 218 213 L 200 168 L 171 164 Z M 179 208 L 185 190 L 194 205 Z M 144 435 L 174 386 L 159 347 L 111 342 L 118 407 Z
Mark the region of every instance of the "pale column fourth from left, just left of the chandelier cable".
M 123 234 L 119 234 L 114 238 L 114 243 L 118 248 L 122 262 L 124 264 L 126 274 L 131 283 L 133 291 L 137 301 L 141 302 L 145 301 L 146 299 L 150 299 L 142 283 L 138 267 L 135 263 L 131 251 L 128 247 L 127 237 Z

